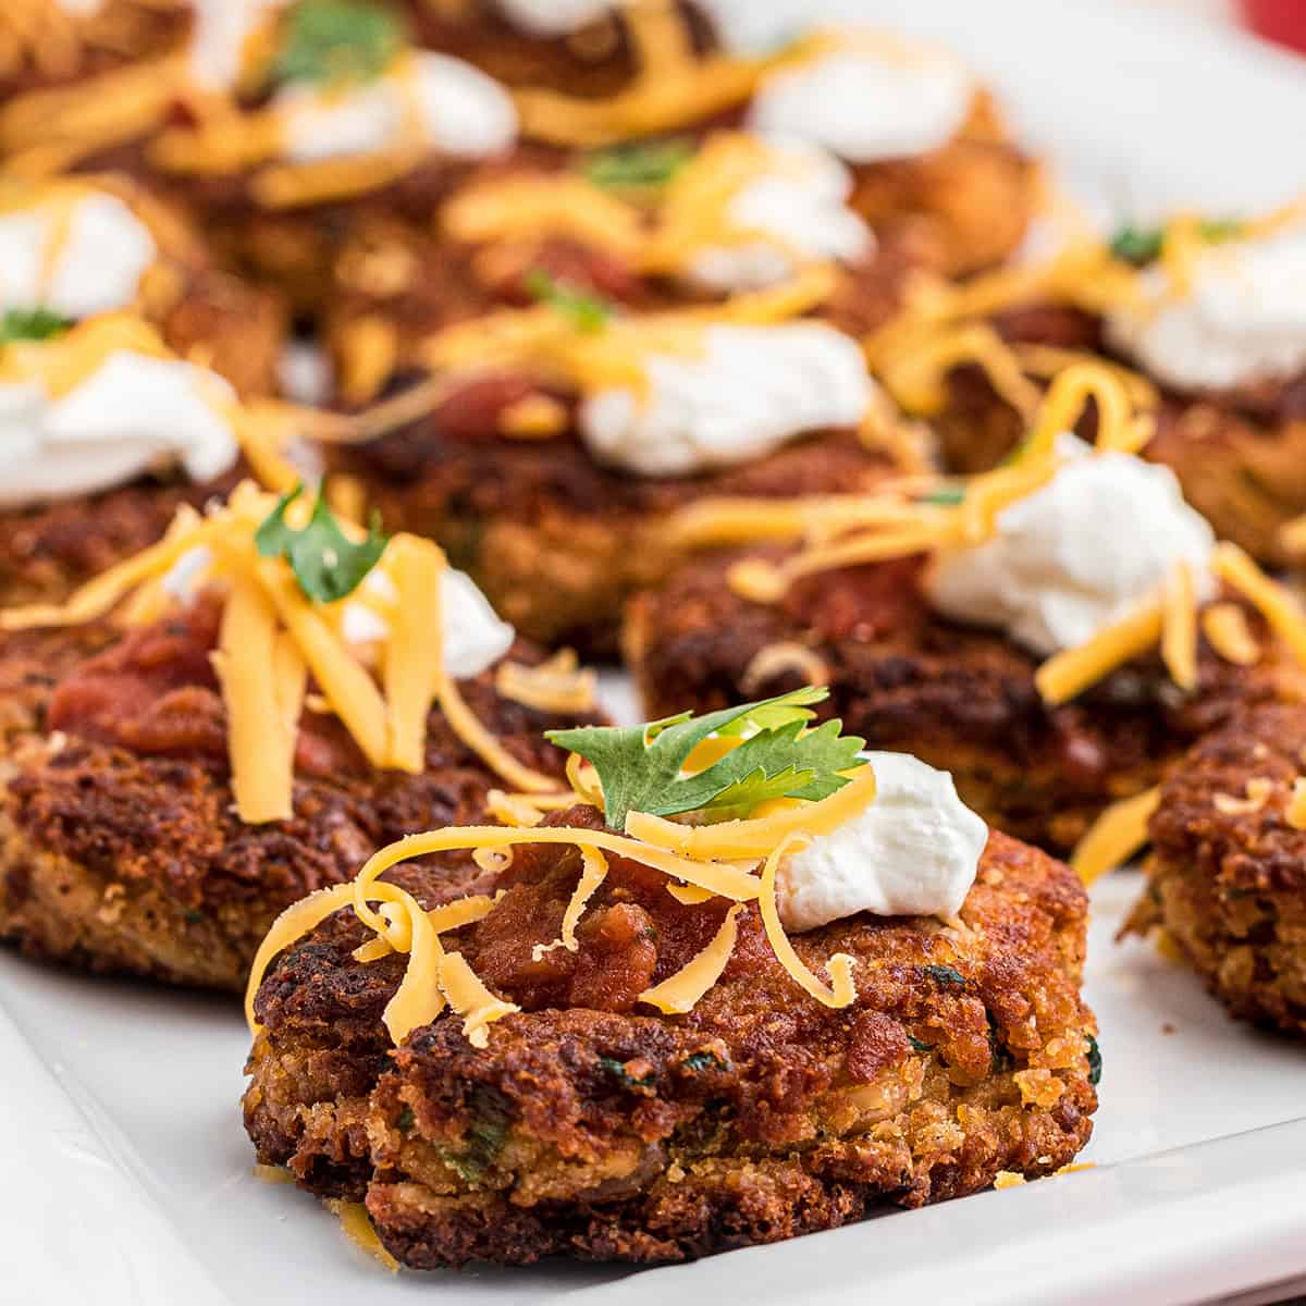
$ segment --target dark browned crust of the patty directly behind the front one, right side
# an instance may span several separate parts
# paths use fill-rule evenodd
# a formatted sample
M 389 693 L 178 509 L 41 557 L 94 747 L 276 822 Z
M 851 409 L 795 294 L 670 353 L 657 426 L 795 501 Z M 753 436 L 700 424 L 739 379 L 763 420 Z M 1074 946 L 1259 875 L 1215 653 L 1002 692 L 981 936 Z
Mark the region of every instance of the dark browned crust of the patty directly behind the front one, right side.
M 652 717 L 803 684 L 803 670 L 755 666 L 764 649 L 798 645 L 816 656 L 831 686 L 825 710 L 846 729 L 951 771 L 995 827 L 1046 848 L 1072 848 L 1104 807 L 1156 784 L 1234 710 L 1306 697 L 1306 673 L 1258 626 L 1258 666 L 1232 666 L 1203 643 L 1192 695 L 1148 660 L 1049 709 L 1037 660 L 998 633 L 935 616 L 912 562 L 824 573 L 777 607 L 735 596 L 729 562 L 691 563 L 631 607 L 626 652 Z

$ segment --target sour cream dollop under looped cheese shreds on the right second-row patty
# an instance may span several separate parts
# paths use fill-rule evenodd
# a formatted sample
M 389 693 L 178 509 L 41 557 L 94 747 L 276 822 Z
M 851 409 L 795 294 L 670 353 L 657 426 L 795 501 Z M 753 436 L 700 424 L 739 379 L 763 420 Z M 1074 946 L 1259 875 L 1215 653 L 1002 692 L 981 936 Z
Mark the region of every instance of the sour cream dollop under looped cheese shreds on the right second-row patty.
M 991 539 L 935 563 L 927 585 L 940 613 L 1050 657 L 1153 598 L 1179 562 L 1211 597 L 1215 534 L 1169 468 L 1092 453 L 1074 436 L 1060 448 L 1057 475 L 1004 509 Z

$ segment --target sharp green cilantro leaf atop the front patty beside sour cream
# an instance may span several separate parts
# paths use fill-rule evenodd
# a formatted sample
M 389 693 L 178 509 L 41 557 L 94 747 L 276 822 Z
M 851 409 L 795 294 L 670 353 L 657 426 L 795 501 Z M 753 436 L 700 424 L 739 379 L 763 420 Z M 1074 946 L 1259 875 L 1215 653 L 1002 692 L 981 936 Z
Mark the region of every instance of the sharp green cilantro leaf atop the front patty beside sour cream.
M 585 726 L 547 737 L 593 763 L 614 829 L 624 828 L 632 811 L 734 820 L 772 798 L 827 798 L 848 784 L 841 772 L 862 765 L 866 741 L 841 735 L 841 722 L 803 733 L 815 717 L 811 704 L 828 695 L 814 686 L 703 717 L 686 712 L 644 726 Z M 684 774 L 690 755 L 712 735 L 742 742 L 704 771 Z

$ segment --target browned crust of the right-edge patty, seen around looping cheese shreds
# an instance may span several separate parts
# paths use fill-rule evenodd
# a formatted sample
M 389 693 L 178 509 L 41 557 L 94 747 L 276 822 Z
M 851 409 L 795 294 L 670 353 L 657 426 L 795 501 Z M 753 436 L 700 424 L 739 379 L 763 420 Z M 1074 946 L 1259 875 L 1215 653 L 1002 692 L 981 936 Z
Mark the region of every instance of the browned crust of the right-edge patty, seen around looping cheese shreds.
M 1101 323 L 1077 310 L 1033 306 L 998 320 L 1011 341 L 1106 354 Z M 1128 359 L 1123 359 L 1128 363 Z M 953 371 L 936 421 L 944 462 L 987 471 L 1021 440 L 1017 414 L 973 366 Z M 1092 431 L 1092 418 L 1081 427 Z M 1297 559 L 1280 538 L 1306 513 L 1306 376 L 1208 394 L 1164 393 L 1143 456 L 1174 470 L 1216 534 L 1271 565 Z

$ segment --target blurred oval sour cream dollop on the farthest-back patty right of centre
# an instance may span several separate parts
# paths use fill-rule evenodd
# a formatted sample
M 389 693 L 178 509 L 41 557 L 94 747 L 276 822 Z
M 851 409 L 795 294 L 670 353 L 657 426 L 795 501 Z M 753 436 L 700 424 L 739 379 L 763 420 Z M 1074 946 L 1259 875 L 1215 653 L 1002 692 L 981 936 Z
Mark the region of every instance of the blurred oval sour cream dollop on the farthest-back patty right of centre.
M 970 72 L 948 54 L 854 37 L 768 77 L 748 125 L 824 145 L 852 163 L 878 163 L 946 145 L 974 93 Z

